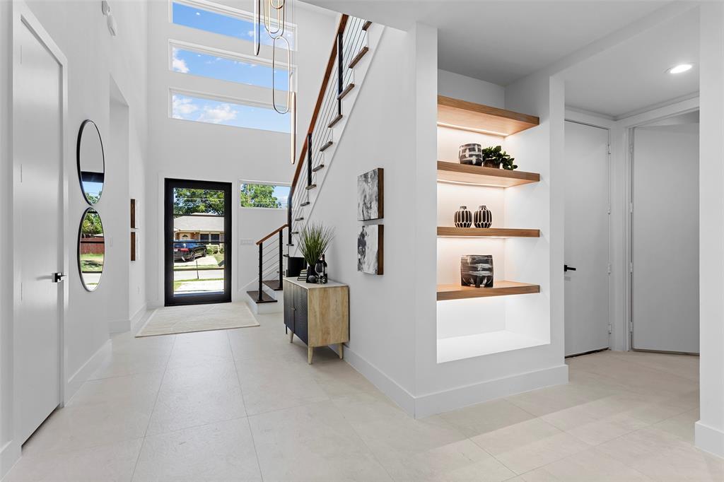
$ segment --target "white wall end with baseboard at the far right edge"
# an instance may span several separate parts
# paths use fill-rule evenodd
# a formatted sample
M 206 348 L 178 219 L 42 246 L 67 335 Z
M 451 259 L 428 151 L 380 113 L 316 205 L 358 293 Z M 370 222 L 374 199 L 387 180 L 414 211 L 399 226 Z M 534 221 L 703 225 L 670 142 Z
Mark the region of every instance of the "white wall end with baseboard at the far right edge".
M 724 5 L 701 8 L 699 111 L 700 420 L 696 446 L 724 457 Z

